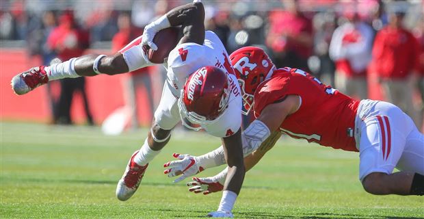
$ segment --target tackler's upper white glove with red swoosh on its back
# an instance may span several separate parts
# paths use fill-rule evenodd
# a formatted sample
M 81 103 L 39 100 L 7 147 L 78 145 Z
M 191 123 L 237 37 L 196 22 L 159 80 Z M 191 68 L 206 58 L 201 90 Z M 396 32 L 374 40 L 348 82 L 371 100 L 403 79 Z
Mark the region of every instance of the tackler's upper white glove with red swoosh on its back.
M 182 175 L 181 177 L 178 177 L 178 179 L 175 179 L 174 183 L 178 183 L 179 181 L 196 175 L 198 172 L 202 172 L 202 170 L 204 170 L 201 166 L 198 165 L 199 162 L 196 157 L 191 155 L 181 155 L 179 153 L 174 153 L 172 156 L 179 160 L 174 160 L 172 162 L 163 164 L 163 167 L 165 168 L 170 167 L 169 169 L 163 171 L 163 173 L 168 174 L 168 177 Z

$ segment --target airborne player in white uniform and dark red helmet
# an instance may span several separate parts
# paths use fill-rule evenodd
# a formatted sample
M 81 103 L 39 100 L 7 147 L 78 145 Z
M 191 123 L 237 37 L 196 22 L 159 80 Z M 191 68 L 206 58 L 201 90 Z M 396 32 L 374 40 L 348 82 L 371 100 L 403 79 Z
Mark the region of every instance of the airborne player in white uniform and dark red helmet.
M 213 217 L 232 217 L 233 205 L 245 174 L 241 149 L 241 95 L 228 53 L 220 39 L 204 29 L 204 7 L 195 0 L 170 10 L 115 55 L 85 55 L 60 64 L 31 68 L 12 79 L 16 94 L 25 94 L 48 81 L 65 77 L 116 75 L 152 65 L 146 46 L 157 49 L 155 34 L 180 26 L 183 36 L 167 59 L 168 74 L 153 127 L 140 150 L 135 151 L 118 182 L 116 196 L 126 201 L 137 190 L 148 163 L 168 143 L 171 130 L 182 120 L 191 129 L 204 129 L 222 138 L 228 181 Z M 187 79 L 188 78 L 188 79 Z M 194 125 L 196 125 L 196 127 Z

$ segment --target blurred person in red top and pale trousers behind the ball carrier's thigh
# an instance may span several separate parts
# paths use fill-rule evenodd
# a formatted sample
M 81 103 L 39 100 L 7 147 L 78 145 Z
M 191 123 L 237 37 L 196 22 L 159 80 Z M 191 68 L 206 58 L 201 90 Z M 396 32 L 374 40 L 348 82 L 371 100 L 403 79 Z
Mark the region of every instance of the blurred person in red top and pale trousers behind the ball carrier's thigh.
M 112 39 L 112 50 L 118 51 L 129 44 L 131 40 L 142 35 L 142 29 L 133 27 L 131 25 L 131 18 L 129 14 L 122 13 L 118 16 L 118 33 Z M 148 93 L 147 99 L 149 103 L 150 114 L 153 114 L 154 102 L 152 94 L 152 82 L 150 80 L 149 70 L 154 69 L 155 66 L 148 68 L 140 68 L 123 77 L 124 88 L 124 101 L 125 105 L 131 109 L 131 129 L 137 129 L 140 124 L 137 118 L 137 87 L 143 86 Z

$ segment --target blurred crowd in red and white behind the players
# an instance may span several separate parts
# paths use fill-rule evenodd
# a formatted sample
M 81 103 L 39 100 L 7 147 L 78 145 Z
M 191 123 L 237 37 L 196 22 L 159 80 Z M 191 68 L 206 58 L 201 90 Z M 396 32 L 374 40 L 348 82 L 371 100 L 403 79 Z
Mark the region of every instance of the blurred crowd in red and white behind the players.
M 2 0 L 1 48 L 25 47 L 29 57 L 41 57 L 44 64 L 83 55 L 86 49 L 114 53 L 140 36 L 150 21 L 189 2 Z M 302 68 L 357 99 L 395 103 L 423 127 L 423 1 L 205 0 L 204 5 L 205 25 L 228 53 L 263 47 L 277 67 Z M 124 110 L 132 115 L 134 129 L 140 125 L 137 86 L 146 90 L 151 115 L 164 74 L 162 68 L 147 68 L 122 78 Z M 69 109 L 76 92 L 83 96 L 88 124 L 94 123 L 83 77 L 60 81 L 59 94 L 51 94 L 53 123 L 72 123 Z

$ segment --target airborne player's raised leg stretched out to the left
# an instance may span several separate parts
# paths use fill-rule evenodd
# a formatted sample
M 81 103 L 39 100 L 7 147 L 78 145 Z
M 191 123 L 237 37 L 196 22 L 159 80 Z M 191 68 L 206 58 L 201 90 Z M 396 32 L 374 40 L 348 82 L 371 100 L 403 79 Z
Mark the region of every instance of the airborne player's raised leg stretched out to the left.
M 114 55 L 83 55 L 50 66 L 31 68 L 12 78 L 12 89 L 21 95 L 57 79 L 98 74 L 116 75 L 153 65 L 144 54 L 140 42 L 141 36 Z

